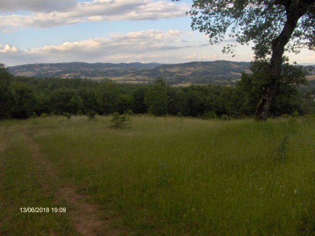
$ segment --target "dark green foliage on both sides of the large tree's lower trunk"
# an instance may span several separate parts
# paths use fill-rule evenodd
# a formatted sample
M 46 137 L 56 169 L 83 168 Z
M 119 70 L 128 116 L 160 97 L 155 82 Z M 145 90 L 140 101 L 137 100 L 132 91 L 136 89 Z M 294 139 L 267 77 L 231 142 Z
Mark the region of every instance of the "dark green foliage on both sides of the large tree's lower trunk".
M 252 73 L 243 73 L 241 81 L 236 86 L 236 91 L 239 93 L 239 101 L 243 103 L 240 111 L 244 115 L 250 115 L 255 112 L 264 87 L 268 85 L 268 80 L 270 80 L 267 60 L 253 61 L 250 69 Z M 273 116 L 292 114 L 295 110 L 301 109 L 298 87 L 308 84 L 305 74 L 306 71 L 302 66 L 284 63 L 281 73 L 282 83 L 276 93 L 275 102 L 271 107 Z

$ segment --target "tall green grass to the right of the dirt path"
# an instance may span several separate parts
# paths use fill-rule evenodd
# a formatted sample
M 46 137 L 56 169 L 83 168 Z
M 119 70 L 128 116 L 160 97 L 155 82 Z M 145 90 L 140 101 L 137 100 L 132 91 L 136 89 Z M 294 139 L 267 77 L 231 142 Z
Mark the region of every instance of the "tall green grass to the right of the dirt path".
M 133 235 L 315 234 L 315 120 L 36 118 L 60 171 Z

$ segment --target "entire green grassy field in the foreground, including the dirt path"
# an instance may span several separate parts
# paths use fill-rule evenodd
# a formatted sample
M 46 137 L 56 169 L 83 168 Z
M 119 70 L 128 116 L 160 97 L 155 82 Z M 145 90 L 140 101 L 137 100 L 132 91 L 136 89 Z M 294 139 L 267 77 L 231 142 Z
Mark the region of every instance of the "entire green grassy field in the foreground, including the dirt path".
M 314 118 L 109 126 L 0 121 L 1 236 L 315 235 Z

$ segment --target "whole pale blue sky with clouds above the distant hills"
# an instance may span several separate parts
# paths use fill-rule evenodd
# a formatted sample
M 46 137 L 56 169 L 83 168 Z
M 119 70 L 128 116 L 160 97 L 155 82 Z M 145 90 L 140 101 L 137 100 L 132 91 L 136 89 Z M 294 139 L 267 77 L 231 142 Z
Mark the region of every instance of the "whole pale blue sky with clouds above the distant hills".
M 192 0 L 1 0 L 0 63 L 251 61 L 252 45 L 222 54 L 190 28 Z M 287 54 L 315 63 L 315 52 Z

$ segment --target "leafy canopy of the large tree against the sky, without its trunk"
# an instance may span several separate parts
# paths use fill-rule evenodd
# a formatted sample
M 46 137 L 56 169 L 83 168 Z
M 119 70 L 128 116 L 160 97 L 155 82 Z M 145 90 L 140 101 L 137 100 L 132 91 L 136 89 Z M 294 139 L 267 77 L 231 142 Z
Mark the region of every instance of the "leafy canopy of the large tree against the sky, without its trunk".
M 252 41 L 256 59 L 271 55 L 272 40 L 284 29 L 288 14 L 301 14 L 285 51 L 315 50 L 314 0 L 193 0 L 187 14 L 191 28 L 206 33 L 211 44 L 232 42 L 223 53 L 234 54 L 237 43 Z

